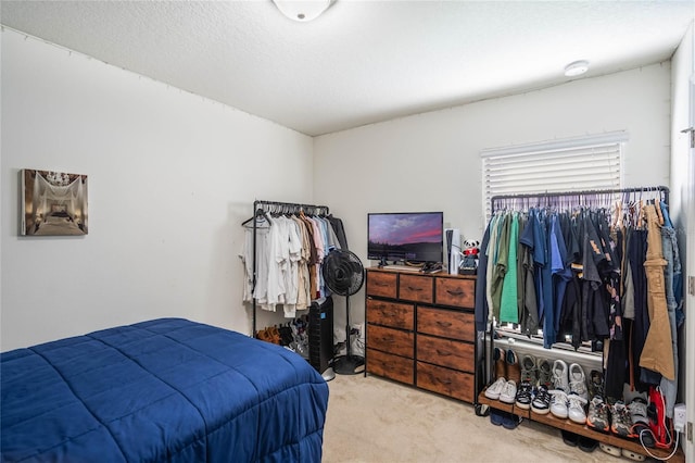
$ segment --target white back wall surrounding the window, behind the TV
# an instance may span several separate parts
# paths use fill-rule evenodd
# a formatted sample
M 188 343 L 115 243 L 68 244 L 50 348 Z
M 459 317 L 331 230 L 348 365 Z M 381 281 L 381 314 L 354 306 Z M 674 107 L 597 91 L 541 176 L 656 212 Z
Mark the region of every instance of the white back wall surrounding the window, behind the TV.
M 368 212 L 442 210 L 480 239 L 482 149 L 616 130 L 630 136 L 624 185 L 669 185 L 669 63 L 318 137 L 314 198 L 343 218 L 363 260 Z M 362 321 L 364 289 L 353 300 Z

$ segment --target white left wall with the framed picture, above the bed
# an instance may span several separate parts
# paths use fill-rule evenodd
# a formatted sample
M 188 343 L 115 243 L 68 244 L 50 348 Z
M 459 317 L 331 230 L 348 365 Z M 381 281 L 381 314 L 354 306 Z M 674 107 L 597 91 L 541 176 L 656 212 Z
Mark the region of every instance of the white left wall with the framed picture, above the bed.
M 1 37 L 1 349 L 157 316 L 251 333 L 240 224 L 254 199 L 312 202 L 312 139 Z M 21 168 L 88 175 L 89 235 L 17 236 Z

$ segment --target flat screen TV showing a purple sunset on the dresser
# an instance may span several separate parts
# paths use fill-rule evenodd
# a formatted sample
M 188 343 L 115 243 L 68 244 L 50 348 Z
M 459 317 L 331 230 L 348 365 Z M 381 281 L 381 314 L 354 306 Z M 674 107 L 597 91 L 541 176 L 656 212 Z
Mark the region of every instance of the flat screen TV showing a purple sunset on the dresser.
M 387 264 L 442 262 L 443 212 L 367 214 L 367 259 Z

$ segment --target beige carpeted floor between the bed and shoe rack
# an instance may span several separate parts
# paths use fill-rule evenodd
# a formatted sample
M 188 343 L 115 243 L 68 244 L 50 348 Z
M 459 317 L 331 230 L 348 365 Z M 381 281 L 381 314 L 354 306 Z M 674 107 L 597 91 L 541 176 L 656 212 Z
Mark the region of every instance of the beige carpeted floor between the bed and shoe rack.
M 377 376 L 337 375 L 328 385 L 324 463 L 630 461 L 569 447 L 539 423 L 494 426 L 470 404 Z

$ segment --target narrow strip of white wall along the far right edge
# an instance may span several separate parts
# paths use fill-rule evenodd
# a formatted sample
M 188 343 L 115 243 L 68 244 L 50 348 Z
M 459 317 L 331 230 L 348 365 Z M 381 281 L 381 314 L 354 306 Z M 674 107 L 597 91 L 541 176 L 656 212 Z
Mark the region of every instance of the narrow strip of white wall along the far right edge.
M 695 126 L 695 35 L 693 24 L 681 41 L 672 59 L 672 98 L 671 98 L 671 213 L 678 232 L 683 278 L 695 276 L 695 149 L 690 147 L 688 134 L 681 130 Z M 687 280 L 684 279 L 687 291 Z M 680 385 L 681 401 L 687 405 L 688 422 L 695 422 L 695 388 L 685 385 L 695 384 L 695 296 L 685 297 L 684 327 L 679 331 L 681 349 L 679 364 L 681 368 Z M 690 313 L 688 313 L 690 312 Z M 690 336 L 688 336 L 690 335 Z M 684 340 L 682 338 L 685 338 Z M 692 440 L 681 442 L 685 449 L 685 461 L 695 459 L 695 445 Z

